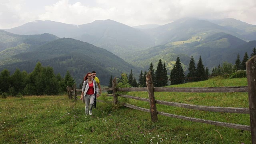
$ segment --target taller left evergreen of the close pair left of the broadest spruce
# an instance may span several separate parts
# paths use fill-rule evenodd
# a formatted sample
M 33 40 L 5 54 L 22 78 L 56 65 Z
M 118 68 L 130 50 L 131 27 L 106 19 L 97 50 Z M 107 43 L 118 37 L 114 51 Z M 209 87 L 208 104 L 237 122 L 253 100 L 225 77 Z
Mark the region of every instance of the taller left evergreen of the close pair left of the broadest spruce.
M 162 60 L 160 59 L 156 67 L 155 82 L 154 82 L 155 87 L 162 86 L 163 74 L 164 74 L 164 65 L 162 64 Z

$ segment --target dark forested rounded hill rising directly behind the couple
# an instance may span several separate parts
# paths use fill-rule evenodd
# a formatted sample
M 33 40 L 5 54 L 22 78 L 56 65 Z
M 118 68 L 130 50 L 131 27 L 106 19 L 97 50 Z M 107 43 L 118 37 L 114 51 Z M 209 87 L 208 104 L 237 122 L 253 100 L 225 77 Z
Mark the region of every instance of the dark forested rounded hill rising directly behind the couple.
M 12 64 L 2 64 L 0 71 L 4 68 L 14 72 L 16 68 L 32 72 L 37 62 L 43 66 L 52 66 L 54 72 L 61 76 L 68 70 L 79 84 L 87 72 L 97 72 L 101 84 L 108 85 L 110 76 L 120 76 L 122 72 L 128 73 L 131 69 L 139 72 L 138 68 L 128 64 L 111 52 L 98 48 L 92 44 L 74 40 L 72 38 L 61 38 L 30 48 L 27 52 L 11 57 L 19 60 Z

